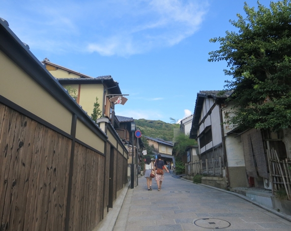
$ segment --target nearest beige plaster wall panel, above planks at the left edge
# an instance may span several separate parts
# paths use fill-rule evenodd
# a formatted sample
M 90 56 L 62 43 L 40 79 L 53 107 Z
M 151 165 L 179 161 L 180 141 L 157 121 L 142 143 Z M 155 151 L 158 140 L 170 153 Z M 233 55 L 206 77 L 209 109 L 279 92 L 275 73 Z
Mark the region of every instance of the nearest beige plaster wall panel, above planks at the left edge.
M 70 134 L 72 114 L 2 51 L 0 95 Z

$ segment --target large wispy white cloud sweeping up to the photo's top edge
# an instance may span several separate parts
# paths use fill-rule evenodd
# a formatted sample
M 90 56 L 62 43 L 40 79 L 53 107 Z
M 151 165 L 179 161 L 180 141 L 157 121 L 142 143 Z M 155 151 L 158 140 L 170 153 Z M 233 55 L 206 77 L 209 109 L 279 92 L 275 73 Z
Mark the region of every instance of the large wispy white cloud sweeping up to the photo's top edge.
M 128 56 L 174 46 L 199 29 L 207 6 L 207 1 L 197 0 L 151 0 L 145 8 L 144 1 L 134 3 L 132 12 L 120 19 L 122 32 L 112 28 L 114 35 L 89 43 L 88 51 Z M 131 19 L 129 24 L 123 24 Z

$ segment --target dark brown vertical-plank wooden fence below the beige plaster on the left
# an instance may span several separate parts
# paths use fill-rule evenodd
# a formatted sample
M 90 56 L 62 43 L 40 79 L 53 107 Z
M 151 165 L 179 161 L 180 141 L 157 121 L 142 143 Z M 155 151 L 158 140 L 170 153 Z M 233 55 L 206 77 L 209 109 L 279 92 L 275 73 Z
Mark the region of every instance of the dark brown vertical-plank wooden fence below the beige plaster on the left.
M 72 142 L 0 103 L 0 231 L 91 231 L 103 219 L 110 144 L 101 154 L 75 142 L 70 175 Z M 114 166 L 113 200 L 127 182 L 116 149 Z

